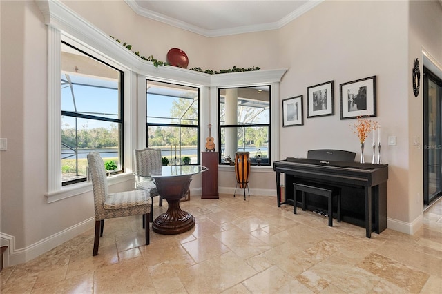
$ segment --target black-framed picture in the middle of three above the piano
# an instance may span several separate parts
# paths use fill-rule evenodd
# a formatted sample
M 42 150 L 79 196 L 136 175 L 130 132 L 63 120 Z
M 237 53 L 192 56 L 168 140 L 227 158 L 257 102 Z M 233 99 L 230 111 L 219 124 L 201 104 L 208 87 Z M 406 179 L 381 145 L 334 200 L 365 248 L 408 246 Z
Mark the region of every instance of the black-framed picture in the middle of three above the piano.
M 307 87 L 307 117 L 334 115 L 333 81 Z

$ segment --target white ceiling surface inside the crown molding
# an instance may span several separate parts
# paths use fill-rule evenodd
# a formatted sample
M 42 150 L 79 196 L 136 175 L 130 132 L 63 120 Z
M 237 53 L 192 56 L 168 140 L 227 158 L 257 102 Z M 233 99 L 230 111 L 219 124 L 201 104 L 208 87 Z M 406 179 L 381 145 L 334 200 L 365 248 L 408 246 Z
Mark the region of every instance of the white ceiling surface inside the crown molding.
M 137 14 L 206 37 L 275 30 L 323 0 L 124 0 Z

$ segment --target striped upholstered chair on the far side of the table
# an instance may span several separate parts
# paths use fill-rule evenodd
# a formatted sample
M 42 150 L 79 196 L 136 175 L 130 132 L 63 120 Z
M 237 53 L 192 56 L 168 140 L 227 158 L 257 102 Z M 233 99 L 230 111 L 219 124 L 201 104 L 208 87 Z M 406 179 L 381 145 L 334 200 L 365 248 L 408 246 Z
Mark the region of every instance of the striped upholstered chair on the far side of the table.
M 161 170 L 162 168 L 161 149 L 135 149 L 133 150 L 133 158 L 135 161 L 135 188 L 137 190 L 148 191 L 153 203 L 153 197 L 160 196 L 160 193 L 158 193 L 157 186 L 151 177 L 151 173 L 154 170 Z M 163 205 L 162 197 L 159 199 L 159 204 L 160 206 Z M 151 207 L 151 222 L 153 222 L 153 206 Z

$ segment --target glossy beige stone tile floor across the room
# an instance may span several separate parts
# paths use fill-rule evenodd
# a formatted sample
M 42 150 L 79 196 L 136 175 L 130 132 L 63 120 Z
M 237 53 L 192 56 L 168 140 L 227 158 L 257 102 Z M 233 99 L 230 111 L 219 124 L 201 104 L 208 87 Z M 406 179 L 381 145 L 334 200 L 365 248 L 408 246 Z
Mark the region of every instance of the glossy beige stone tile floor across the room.
M 166 211 L 167 202 L 154 217 Z M 4 268 L 1 293 L 442 293 L 442 201 L 414 235 L 365 229 L 276 206 L 275 197 L 182 202 L 191 231 L 144 246 L 141 217 L 106 220 L 26 264 Z

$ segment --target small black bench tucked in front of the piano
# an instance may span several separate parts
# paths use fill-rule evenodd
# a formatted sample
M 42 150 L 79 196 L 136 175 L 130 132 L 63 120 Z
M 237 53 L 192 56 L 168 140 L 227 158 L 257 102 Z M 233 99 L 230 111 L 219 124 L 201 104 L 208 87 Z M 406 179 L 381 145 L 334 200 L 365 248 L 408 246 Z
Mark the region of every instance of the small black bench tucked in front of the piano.
M 334 186 L 326 186 L 322 184 L 314 183 L 293 183 L 293 199 L 294 208 L 293 213 L 296 214 L 296 191 L 302 192 L 302 210 L 305 211 L 305 193 L 311 193 L 328 198 L 328 214 L 329 214 L 329 226 L 333 226 L 333 197 L 338 197 L 338 222 L 340 222 L 340 188 Z

